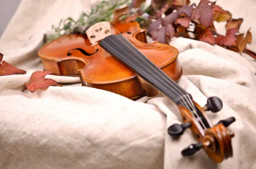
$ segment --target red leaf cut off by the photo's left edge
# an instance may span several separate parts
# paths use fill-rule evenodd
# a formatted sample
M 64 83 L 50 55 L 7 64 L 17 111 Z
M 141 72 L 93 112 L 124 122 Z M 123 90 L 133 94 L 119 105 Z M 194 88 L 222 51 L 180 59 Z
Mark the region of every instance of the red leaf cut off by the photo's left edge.
M 14 74 L 25 74 L 25 70 L 15 68 L 13 65 L 2 61 L 3 54 L 0 53 L 0 76 L 14 75 Z M 1 62 L 2 61 L 2 62 Z

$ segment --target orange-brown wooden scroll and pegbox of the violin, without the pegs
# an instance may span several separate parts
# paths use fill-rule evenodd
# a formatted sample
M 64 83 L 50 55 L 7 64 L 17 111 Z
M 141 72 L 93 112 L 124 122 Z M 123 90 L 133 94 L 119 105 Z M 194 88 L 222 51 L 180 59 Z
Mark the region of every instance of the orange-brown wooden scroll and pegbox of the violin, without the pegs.
M 224 159 L 232 157 L 231 138 L 234 137 L 233 132 L 224 127 L 223 124 L 212 125 L 204 110 L 196 102 L 193 101 L 193 103 L 201 111 L 204 118 L 206 118 L 210 127 L 204 129 L 189 110 L 179 106 L 183 123 L 191 122 L 190 131 L 198 143 L 203 143 L 203 149 L 213 161 L 221 163 Z

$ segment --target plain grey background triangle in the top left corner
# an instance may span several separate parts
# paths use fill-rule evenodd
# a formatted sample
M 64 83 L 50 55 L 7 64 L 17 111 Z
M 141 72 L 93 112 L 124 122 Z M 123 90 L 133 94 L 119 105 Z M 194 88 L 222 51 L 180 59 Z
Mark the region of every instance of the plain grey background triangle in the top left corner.
M 0 38 L 21 0 L 0 0 Z

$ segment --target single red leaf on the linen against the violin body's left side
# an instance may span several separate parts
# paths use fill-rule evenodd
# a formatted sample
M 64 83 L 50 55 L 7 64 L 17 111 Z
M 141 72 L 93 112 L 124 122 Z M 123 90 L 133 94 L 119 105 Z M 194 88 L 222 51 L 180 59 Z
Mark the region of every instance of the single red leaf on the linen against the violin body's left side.
M 25 82 L 26 88 L 31 92 L 35 92 L 35 90 L 38 89 L 45 89 L 48 88 L 49 86 L 62 86 L 59 85 L 58 82 L 52 79 L 45 79 L 44 77 L 48 74 L 51 74 L 53 72 L 49 71 L 35 71 L 32 73 L 29 83 Z M 26 89 L 25 88 L 25 89 Z

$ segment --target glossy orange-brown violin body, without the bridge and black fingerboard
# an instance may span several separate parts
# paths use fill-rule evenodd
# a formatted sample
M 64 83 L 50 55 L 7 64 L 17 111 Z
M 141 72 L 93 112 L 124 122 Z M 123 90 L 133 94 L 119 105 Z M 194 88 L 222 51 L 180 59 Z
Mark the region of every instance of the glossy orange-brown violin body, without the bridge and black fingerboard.
M 174 81 L 182 76 L 177 49 L 158 42 L 147 43 L 145 30 L 140 29 L 137 22 L 116 23 L 111 32 L 121 32 Z M 158 90 L 111 56 L 99 44 L 91 45 L 85 34 L 67 34 L 59 37 L 44 45 L 38 55 L 44 70 L 59 76 L 79 76 L 82 86 L 107 90 L 129 99 L 155 96 L 158 93 Z

